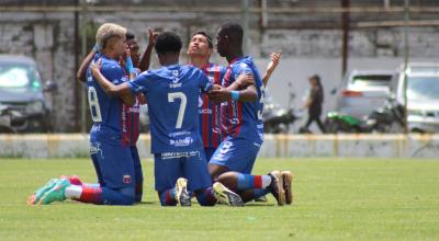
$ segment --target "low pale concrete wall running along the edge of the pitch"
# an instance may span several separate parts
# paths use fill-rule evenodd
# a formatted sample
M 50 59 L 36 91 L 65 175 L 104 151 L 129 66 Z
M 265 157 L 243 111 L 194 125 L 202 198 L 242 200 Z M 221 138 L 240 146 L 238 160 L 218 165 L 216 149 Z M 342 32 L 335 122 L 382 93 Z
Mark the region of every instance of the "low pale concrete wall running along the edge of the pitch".
M 0 135 L 0 158 L 88 158 L 88 135 Z M 137 142 L 151 159 L 150 138 Z M 266 135 L 260 158 L 439 158 L 439 135 Z

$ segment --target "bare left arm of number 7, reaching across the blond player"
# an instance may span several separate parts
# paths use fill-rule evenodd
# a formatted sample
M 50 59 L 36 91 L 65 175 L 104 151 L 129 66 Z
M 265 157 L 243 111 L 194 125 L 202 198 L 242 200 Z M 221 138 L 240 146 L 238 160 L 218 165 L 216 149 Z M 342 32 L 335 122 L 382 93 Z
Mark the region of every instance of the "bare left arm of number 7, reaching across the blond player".
M 92 61 L 90 64 L 91 73 L 98 81 L 99 85 L 102 87 L 103 91 L 110 96 L 119 96 L 127 105 L 133 105 L 136 102 L 136 96 L 131 92 L 127 82 L 121 84 L 114 84 L 109 81 L 100 71 L 101 60 L 98 62 Z

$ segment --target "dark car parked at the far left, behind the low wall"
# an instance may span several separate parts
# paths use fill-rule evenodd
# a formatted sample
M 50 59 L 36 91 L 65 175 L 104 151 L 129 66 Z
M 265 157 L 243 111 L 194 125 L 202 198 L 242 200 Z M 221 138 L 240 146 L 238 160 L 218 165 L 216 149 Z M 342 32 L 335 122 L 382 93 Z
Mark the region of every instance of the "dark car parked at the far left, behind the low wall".
M 10 119 L 14 131 L 50 130 L 50 110 L 44 92 L 55 89 L 56 84 L 50 81 L 43 85 L 32 58 L 0 55 L 0 105 L 15 111 L 20 116 Z

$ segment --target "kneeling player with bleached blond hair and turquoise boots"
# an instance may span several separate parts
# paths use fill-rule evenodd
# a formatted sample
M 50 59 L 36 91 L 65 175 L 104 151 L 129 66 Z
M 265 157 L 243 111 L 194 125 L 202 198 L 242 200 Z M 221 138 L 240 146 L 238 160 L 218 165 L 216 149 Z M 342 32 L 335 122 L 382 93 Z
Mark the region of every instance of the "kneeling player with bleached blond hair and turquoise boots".
M 97 33 L 97 43 L 102 47 L 102 74 L 120 84 L 126 81 L 119 64 L 124 54 L 126 30 L 116 24 L 103 24 Z M 106 205 L 132 205 L 135 202 L 135 171 L 130 148 L 130 137 L 124 122 L 123 103 L 132 105 L 135 99 L 111 97 L 87 73 L 88 99 L 93 120 L 90 130 L 90 153 L 101 177 L 99 185 L 75 185 L 68 179 L 52 180 L 35 192 L 30 204 L 50 204 L 66 198 L 82 203 Z M 126 111 L 126 110 L 125 110 Z

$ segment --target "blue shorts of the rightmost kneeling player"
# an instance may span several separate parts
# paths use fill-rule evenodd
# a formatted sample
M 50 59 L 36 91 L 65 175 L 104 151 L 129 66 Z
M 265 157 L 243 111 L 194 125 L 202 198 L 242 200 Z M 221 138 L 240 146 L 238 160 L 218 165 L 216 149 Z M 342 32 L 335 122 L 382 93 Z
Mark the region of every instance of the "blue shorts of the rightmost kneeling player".
M 260 145 L 251 140 L 227 137 L 221 142 L 209 163 L 226 167 L 229 171 L 250 174 L 259 149 Z

